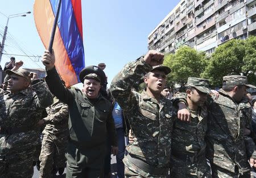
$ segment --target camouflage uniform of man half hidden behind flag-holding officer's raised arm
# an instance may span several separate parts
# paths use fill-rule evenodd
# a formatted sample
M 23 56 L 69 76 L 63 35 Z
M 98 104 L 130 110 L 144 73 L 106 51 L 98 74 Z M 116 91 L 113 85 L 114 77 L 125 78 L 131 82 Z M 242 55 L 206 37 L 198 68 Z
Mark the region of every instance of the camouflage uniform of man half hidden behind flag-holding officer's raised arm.
M 65 167 L 65 151 L 68 144 L 68 106 L 54 97 L 53 104 L 47 107 L 46 111 L 48 116 L 43 118 L 47 125 L 43 130 L 40 177 L 49 178 L 53 176 L 52 169 Z

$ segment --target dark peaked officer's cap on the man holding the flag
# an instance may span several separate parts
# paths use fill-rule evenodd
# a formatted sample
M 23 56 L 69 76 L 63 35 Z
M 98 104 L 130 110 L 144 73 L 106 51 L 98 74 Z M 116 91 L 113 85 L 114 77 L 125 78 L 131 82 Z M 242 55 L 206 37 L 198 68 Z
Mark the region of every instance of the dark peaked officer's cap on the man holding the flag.
M 82 83 L 84 83 L 85 78 L 94 78 L 97 81 L 100 81 L 101 84 L 106 82 L 106 74 L 96 65 L 90 65 L 82 69 L 79 73 L 79 79 Z

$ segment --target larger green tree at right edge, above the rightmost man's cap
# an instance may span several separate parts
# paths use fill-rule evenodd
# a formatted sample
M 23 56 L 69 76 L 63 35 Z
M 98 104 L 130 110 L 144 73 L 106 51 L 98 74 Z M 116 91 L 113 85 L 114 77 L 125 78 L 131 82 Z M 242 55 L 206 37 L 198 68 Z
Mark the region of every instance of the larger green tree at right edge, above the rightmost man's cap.
M 216 48 L 201 77 L 208 78 L 213 86 L 222 86 L 222 77 L 243 73 L 255 84 L 256 37 L 246 40 L 233 39 Z

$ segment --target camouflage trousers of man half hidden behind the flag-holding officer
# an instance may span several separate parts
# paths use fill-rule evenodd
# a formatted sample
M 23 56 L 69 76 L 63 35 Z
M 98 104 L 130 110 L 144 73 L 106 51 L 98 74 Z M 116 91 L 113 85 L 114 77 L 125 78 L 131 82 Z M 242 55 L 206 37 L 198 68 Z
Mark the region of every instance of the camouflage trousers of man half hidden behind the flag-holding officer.
M 42 148 L 39 156 L 40 160 L 40 177 L 51 178 L 53 169 L 66 167 L 65 152 L 67 150 L 67 137 L 57 138 L 54 136 L 44 135 Z

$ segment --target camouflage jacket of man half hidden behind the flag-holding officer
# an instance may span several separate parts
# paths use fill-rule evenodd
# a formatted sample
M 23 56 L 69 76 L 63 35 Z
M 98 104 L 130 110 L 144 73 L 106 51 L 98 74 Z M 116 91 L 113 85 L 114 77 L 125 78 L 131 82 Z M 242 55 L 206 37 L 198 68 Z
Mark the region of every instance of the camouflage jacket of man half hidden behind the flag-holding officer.
M 68 105 L 57 97 L 53 98 L 53 104 L 46 108 L 48 116 L 43 118 L 47 124 L 43 134 L 51 134 L 60 137 L 68 136 Z

